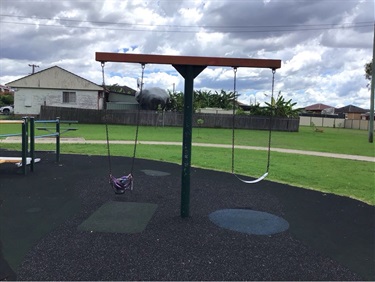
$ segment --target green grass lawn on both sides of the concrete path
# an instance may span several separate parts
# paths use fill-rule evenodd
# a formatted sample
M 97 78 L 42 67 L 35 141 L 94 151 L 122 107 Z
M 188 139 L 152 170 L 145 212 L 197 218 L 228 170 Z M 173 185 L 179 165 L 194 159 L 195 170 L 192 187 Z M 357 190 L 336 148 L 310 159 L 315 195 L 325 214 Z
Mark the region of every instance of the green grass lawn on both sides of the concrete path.
M 105 140 L 104 125 L 77 124 L 78 131 L 64 133 L 63 137 L 83 137 L 86 140 Z M 0 134 L 20 131 L 18 125 L 1 126 Z M 37 132 L 38 133 L 38 132 Z M 41 134 L 41 133 L 38 133 Z M 134 140 L 135 127 L 109 126 L 110 140 Z M 193 142 L 231 144 L 230 129 L 194 128 Z M 140 127 L 139 141 L 181 142 L 182 128 Z M 236 130 L 236 145 L 267 146 L 268 132 Z M 0 144 L 1 148 L 20 149 L 19 144 Z M 340 154 L 375 156 L 374 143 L 368 142 L 368 132 L 363 130 L 325 128 L 324 133 L 310 127 L 300 127 L 299 132 L 273 132 L 272 147 L 309 150 Z M 37 150 L 53 150 L 49 144 L 37 144 Z M 62 153 L 106 155 L 106 145 L 63 144 Z M 111 154 L 132 156 L 132 145 L 111 145 Z M 235 171 L 241 175 L 259 177 L 266 168 L 266 151 L 236 149 Z M 144 145 L 137 147 L 137 157 L 181 163 L 181 146 Z M 124 164 L 125 166 L 127 164 Z M 130 163 L 128 164 L 130 166 Z M 231 150 L 223 148 L 193 147 L 192 165 L 230 172 Z M 126 169 L 126 167 L 124 167 Z M 105 172 L 103 172 L 105 173 Z M 268 180 L 293 186 L 320 190 L 352 197 L 375 205 L 375 163 L 304 156 L 286 153 L 271 154 Z M 234 179 L 235 181 L 235 179 Z

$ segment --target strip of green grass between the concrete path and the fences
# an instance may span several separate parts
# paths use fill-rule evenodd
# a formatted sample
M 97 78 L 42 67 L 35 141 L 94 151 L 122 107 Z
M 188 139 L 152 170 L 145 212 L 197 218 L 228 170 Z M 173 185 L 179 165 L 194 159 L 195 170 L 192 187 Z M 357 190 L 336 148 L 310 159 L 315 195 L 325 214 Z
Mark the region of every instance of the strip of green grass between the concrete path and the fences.
M 62 125 L 66 127 L 67 125 Z M 105 140 L 105 126 L 98 124 L 74 124 L 77 131 L 64 133 L 63 137 L 83 137 L 87 140 Z M 17 124 L 1 125 L 0 135 L 20 132 Z M 36 131 L 36 134 L 42 134 Z M 110 125 L 110 140 L 134 140 L 135 127 L 126 125 Z M 139 128 L 141 141 L 182 141 L 180 127 L 151 127 Z M 194 128 L 193 142 L 231 144 L 232 130 L 218 128 Z M 267 146 L 268 131 L 236 130 L 237 145 Z M 323 133 L 314 132 L 311 127 L 300 126 L 299 132 L 272 132 L 272 147 L 295 150 L 309 150 L 339 154 L 375 156 L 375 143 L 368 142 L 368 132 L 365 130 L 325 128 Z

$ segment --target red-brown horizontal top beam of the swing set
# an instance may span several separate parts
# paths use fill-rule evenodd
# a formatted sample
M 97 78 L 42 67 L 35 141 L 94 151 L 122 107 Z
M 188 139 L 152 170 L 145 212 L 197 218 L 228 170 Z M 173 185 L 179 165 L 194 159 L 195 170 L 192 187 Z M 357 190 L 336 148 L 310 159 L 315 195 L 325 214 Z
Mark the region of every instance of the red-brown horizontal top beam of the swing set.
M 192 66 L 218 66 L 218 67 L 247 67 L 270 68 L 281 67 L 281 60 L 269 59 L 243 59 L 221 57 L 196 57 L 196 56 L 170 56 L 148 54 L 125 54 L 96 52 L 98 62 L 140 63 L 140 64 L 166 64 L 166 65 L 192 65 Z

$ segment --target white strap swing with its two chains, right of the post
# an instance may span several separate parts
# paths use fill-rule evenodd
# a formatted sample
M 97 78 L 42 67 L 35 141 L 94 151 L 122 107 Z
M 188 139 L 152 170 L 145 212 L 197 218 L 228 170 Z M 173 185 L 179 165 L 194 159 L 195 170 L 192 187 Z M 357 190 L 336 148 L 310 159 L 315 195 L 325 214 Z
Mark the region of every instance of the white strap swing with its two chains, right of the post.
M 235 172 L 234 172 L 234 149 L 235 149 L 235 145 L 234 145 L 234 133 L 235 133 L 235 116 L 236 116 L 236 102 L 237 102 L 237 93 L 236 93 L 236 81 L 237 81 L 237 67 L 233 67 L 233 71 L 234 71 L 234 97 L 233 97 L 233 127 L 232 127 L 232 174 L 240 181 L 242 181 L 243 183 L 246 183 L 246 184 L 255 184 L 255 183 L 258 183 L 260 181 L 262 181 L 263 179 L 265 179 L 267 176 L 268 176 L 268 173 L 269 173 L 269 167 L 270 167 L 270 159 L 271 159 L 271 132 L 272 132 L 272 117 L 274 115 L 274 112 L 273 112 L 273 109 L 270 113 L 270 119 L 269 119 L 269 133 L 268 133 L 268 153 L 267 153 L 267 168 L 266 168 L 266 172 L 260 176 L 259 178 L 257 179 L 253 179 L 253 180 L 245 180 L 245 179 L 242 179 L 241 177 L 239 177 Z M 275 69 L 272 69 L 272 91 L 271 91 L 271 106 L 273 106 L 273 92 L 274 92 L 274 85 L 275 85 Z

